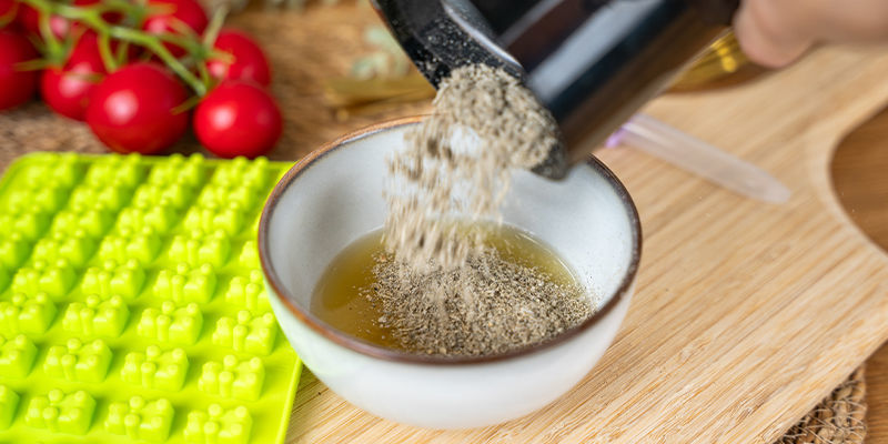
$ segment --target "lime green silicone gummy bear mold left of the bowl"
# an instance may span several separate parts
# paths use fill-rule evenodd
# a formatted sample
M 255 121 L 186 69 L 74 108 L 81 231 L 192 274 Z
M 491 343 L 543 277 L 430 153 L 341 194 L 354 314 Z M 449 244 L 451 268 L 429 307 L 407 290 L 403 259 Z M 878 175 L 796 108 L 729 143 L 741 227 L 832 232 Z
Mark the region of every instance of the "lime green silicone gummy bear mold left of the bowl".
M 282 443 L 255 241 L 289 164 L 36 153 L 0 179 L 0 443 Z

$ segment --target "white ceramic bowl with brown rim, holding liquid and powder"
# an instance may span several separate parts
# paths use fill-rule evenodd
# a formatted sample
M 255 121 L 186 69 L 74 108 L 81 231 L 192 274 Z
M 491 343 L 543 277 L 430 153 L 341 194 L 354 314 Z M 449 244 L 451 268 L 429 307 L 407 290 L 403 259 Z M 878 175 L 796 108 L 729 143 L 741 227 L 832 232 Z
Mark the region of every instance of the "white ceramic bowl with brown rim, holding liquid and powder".
M 642 234 L 626 190 L 591 160 L 558 182 L 515 174 L 504 221 L 554 248 L 595 294 L 597 312 L 553 341 L 504 355 L 412 355 L 340 332 L 309 311 L 330 261 L 382 226 L 385 155 L 418 119 L 383 123 L 313 152 L 278 183 L 259 228 L 272 307 L 305 365 L 354 405 L 401 423 L 467 428 L 551 403 L 588 373 L 629 305 Z

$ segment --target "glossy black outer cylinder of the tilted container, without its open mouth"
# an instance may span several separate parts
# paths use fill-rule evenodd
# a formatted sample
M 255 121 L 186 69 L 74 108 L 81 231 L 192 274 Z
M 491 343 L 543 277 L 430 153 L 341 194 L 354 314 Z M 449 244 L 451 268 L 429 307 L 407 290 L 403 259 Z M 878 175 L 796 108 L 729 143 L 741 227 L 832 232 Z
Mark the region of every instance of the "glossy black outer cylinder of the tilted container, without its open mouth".
M 575 162 L 667 88 L 724 31 L 736 1 L 473 0 L 473 6 L 558 121 L 568 161 Z

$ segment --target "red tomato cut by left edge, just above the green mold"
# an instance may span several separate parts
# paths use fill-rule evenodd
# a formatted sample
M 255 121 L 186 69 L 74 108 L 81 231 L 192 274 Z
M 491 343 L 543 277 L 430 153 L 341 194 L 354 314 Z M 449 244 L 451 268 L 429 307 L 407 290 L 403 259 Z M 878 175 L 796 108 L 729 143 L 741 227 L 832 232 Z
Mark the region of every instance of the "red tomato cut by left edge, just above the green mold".
M 19 63 L 37 58 L 28 39 L 0 29 L 0 110 L 18 107 L 34 95 L 38 71 L 24 71 Z

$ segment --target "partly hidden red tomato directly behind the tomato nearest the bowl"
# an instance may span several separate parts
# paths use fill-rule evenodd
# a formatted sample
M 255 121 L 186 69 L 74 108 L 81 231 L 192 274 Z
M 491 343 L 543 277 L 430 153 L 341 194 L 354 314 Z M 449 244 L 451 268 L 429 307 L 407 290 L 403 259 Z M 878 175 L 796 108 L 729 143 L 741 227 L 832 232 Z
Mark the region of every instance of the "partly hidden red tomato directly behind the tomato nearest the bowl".
M 268 87 L 271 83 L 269 60 L 259 44 L 243 32 L 224 29 L 213 44 L 219 51 L 228 52 L 231 60 L 212 59 L 206 69 L 219 80 L 252 80 Z

